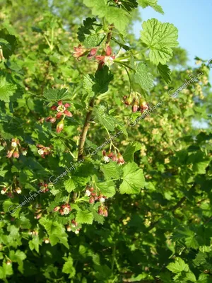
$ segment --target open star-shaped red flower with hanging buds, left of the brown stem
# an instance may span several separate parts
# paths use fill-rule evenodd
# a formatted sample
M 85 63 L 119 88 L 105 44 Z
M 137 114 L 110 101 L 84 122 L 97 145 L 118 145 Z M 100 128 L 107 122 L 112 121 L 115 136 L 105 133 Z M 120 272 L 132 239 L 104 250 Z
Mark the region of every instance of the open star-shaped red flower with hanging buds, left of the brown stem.
M 52 124 L 56 122 L 57 119 L 61 120 L 57 123 L 56 126 L 56 132 L 59 134 L 63 129 L 64 129 L 64 118 L 67 117 L 72 117 L 72 113 L 67 109 L 71 105 L 69 103 L 62 103 L 62 100 L 59 100 L 57 102 L 57 105 L 53 105 L 51 107 L 51 110 L 57 111 L 57 115 L 54 116 L 49 116 L 46 118 L 47 122 L 51 122 Z

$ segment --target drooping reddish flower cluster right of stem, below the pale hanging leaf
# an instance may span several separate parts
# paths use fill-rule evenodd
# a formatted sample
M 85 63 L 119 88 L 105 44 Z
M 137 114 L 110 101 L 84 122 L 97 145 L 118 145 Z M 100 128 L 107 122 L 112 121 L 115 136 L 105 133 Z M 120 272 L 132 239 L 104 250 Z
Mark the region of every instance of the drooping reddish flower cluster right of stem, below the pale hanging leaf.
M 149 109 L 149 104 L 146 103 L 146 100 L 136 91 L 131 92 L 128 97 L 124 96 L 123 103 L 127 106 L 131 105 L 131 110 L 134 113 L 138 111 L 143 113 L 143 111 Z

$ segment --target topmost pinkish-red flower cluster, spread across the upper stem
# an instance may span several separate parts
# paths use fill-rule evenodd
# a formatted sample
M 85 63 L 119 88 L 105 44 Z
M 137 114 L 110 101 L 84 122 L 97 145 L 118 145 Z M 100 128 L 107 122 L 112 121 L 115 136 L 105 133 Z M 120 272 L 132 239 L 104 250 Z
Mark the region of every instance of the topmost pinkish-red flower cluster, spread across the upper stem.
M 115 55 L 112 55 L 112 49 L 110 46 L 107 46 L 106 50 L 101 55 L 96 55 L 98 52 L 98 47 L 86 49 L 81 45 L 78 45 L 78 47 L 73 47 L 73 49 L 73 57 L 76 57 L 78 59 L 79 57 L 87 55 L 87 58 L 89 60 L 92 58 L 97 59 L 99 61 L 100 67 L 102 67 L 104 64 L 106 66 L 111 66 L 113 64 L 113 60 L 115 59 Z

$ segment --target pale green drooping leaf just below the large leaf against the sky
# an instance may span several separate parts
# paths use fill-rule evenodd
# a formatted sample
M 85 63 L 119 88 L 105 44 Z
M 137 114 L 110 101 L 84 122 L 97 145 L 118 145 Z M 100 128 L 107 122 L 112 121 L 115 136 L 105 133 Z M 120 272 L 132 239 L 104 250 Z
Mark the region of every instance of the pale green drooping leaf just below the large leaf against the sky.
M 139 83 L 141 88 L 145 91 L 149 91 L 153 88 L 153 76 L 151 73 L 148 73 L 146 64 L 139 63 L 136 67 L 136 73 L 134 74 L 134 81 Z

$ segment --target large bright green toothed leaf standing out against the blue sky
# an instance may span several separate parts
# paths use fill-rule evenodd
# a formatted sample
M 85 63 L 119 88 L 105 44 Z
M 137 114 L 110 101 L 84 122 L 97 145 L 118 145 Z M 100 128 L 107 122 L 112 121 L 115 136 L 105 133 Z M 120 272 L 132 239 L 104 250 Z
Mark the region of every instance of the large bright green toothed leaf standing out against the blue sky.
M 178 45 L 177 28 L 155 18 L 143 22 L 142 27 L 141 41 L 150 48 L 149 59 L 157 66 L 159 63 L 166 64 L 172 58 L 172 47 Z

